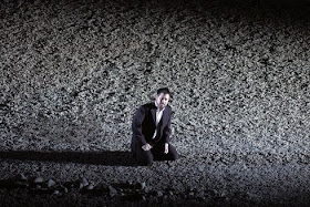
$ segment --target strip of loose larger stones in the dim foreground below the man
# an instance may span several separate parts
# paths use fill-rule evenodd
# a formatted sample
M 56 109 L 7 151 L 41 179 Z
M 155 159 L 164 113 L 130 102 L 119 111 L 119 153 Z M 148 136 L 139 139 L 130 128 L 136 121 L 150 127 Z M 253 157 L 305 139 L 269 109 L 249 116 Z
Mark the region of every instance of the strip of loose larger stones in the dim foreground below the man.
M 96 196 L 108 196 L 111 198 L 122 198 L 123 200 L 146 200 L 149 197 L 163 198 L 163 199 L 176 199 L 177 197 L 187 199 L 205 200 L 206 194 L 199 193 L 197 189 L 187 189 L 184 194 L 177 194 L 173 188 L 166 188 L 162 190 L 151 190 L 145 182 L 131 182 L 106 184 L 94 183 L 85 177 L 81 177 L 74 182 L 55 182 L 52 178 L 32 177 L 29 178 L 24 174 L 1 180 L 2 188 L 23 188 L 34 194 L 50 194 L 62 196 L 68 193 L 90 194 Z M 204 190 L 203 190 L 204 192 Z M 216 190 L 210 190 L 209 195 L 220 197 L 216 195 Z

